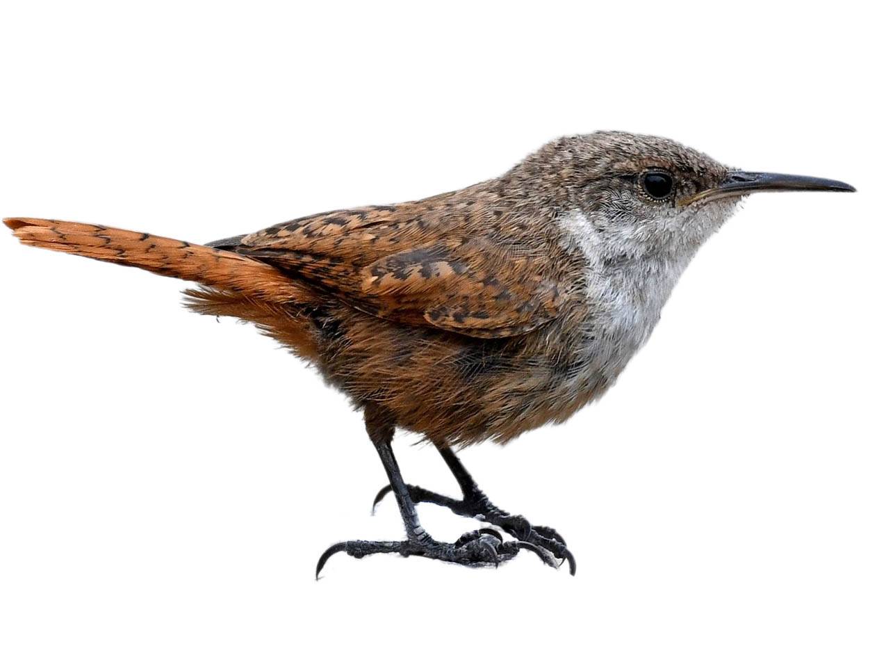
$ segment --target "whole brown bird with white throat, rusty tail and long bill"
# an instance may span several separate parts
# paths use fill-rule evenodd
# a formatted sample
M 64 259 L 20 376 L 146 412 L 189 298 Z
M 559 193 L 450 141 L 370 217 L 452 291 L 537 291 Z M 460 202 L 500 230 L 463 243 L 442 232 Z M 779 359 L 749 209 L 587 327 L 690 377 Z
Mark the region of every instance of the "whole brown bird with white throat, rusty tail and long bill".
M 186 306 L 256 325 L 351 399 L 389 481 L 374 505 L 395 496 L 405 538 L 333 544 L 316 578 L 339 552 L 478 568 L 528 550 L 574 575 L 565 538 L 499 508 L 456 450 L 566 421 L 612 387 L 694 254 L 747 195 L 854 190 L 746 172 L 668 138 L 596 131 L 552 140 L 458 191 L 206 245 L 58 219 L 4 224 L 24 245 L 195 282 Z M 397 428 L 437 448 L 460 498 L 405 482 Z M 420 502 L 482 528 L 438 541 Z

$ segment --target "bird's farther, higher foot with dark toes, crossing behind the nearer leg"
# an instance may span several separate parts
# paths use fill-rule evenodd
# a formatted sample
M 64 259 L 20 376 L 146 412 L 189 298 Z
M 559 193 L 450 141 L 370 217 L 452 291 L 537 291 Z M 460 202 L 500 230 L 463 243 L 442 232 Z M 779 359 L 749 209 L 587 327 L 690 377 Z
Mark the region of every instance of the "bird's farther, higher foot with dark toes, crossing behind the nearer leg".
M 390 491 L 391 487 L 389 485 L 381 488 L 378 495 L 375 496 L 375 501 L 371 504 L 372 514 L 378 502 L 389 494 Z M 420 488 L 416 485 L 409 485 L 408 492 L 414 503 L 434 503 L 438 506 L 450 508 L 457 515 L 472 517 L 480 522 L 498 526 L 508 535 L 516 537 L 518 542 L 532 544 L 539 549 L 545 549 L 559 561 L 567 561 L 568 569 L 571 571 L 572 576 L 577 572 L 574 556 L 568 550 L 565 538 L 559 535 L 556 529 L 549 526 L 534 526 L 522 515 L 506 513 L 504 510 L 494 506 L 489 498 L 479 489 L 469 492 L 463 499 L 453 499 L 449 496 L 439 495 L 436 492 Z

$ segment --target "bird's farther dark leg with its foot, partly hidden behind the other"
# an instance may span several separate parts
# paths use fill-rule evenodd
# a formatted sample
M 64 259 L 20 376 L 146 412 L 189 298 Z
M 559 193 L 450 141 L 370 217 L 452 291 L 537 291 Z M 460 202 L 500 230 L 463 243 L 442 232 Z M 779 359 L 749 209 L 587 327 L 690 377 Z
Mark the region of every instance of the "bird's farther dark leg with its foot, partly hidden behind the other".
M 457 515 L 464 517 L 472 517 L 481 522 L 491 523 L 505 530 L 506 533 L 516 537 L 519 542 L 529 542 L 535 544 L 542 549 L 546 549 L 560 560 L 567 560 L 571 574 L 576 572 L 576 564 L 574 556 L 566 547 L 565 539 L 559 533 L 548 526 L 533 526 L 522 515 L 511 515 L 501 508 L 496 507 L 486 496 L 478 484 L 465 469 L 465 465 L 459 461 L 458 456 L 453 453 L 449 447 L 438 448 L 438 453 L 444 458 L 447 467 L 450 468 L 453 477 L 462 491 L 462 499 L 453 499 L 452 497 L 439 495 L 436 492 L 419 488 L 416 485 L 406 486 L 408 495 L 412 502 L 434 503 L 438 506 L 450 508 Z M 390 485 L 381 488 L 378 495 L 375 496 L 375 501 L 371 506 L 374 511 L 375 506 L 381 501 L 393 488 Z

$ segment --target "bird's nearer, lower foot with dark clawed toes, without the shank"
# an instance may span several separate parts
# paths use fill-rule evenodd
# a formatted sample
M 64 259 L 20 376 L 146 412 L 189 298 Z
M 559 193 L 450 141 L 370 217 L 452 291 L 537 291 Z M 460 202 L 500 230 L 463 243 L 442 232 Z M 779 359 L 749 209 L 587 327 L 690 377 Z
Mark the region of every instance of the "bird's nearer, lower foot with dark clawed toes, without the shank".
M 398 553 L 407 557 L 420 555 L 433 560 L 443 560 L 465 567 L 498 567 L 501 562 L 512 560 L 520 549 L 529 549 L 539 556 L 545 564 L 556 567 L 552 555 L 532 542 L 504 542 L 498 531 L 492 528 L 480 528 L 471 533 L 465 533 L 456 542 L 438 542 L 431 535 L 421 531 L 420 535 L 402 542 L 368 542 L 366 540 L 351 540 L 338 542 L 326 549 L 318 560 L 315 577 L 320 576 L 326 561 L 333 554 L 344 551 L 355 558 L 376 553 Z

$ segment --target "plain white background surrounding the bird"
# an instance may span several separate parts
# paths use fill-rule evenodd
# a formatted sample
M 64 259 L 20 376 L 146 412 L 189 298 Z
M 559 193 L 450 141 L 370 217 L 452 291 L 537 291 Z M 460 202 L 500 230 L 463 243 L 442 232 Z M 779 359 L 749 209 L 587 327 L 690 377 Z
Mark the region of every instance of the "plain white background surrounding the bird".
M 762 195 L 561 427 L 464 460 L 575 578 L 381 556 L 358 414 L 181 282 L 0 238 L 0 650 L 866 651 L 866 22 L 854 3 L 3 3 L 0 213 L 203 242 L 499 175 L 563 133 L 841 178 Z M 364 5 L 365 6 L 362 6 Z M 452 481 L 398 441 L 406 477 Z M 441 508 L 453 539 L 470 521 Z

